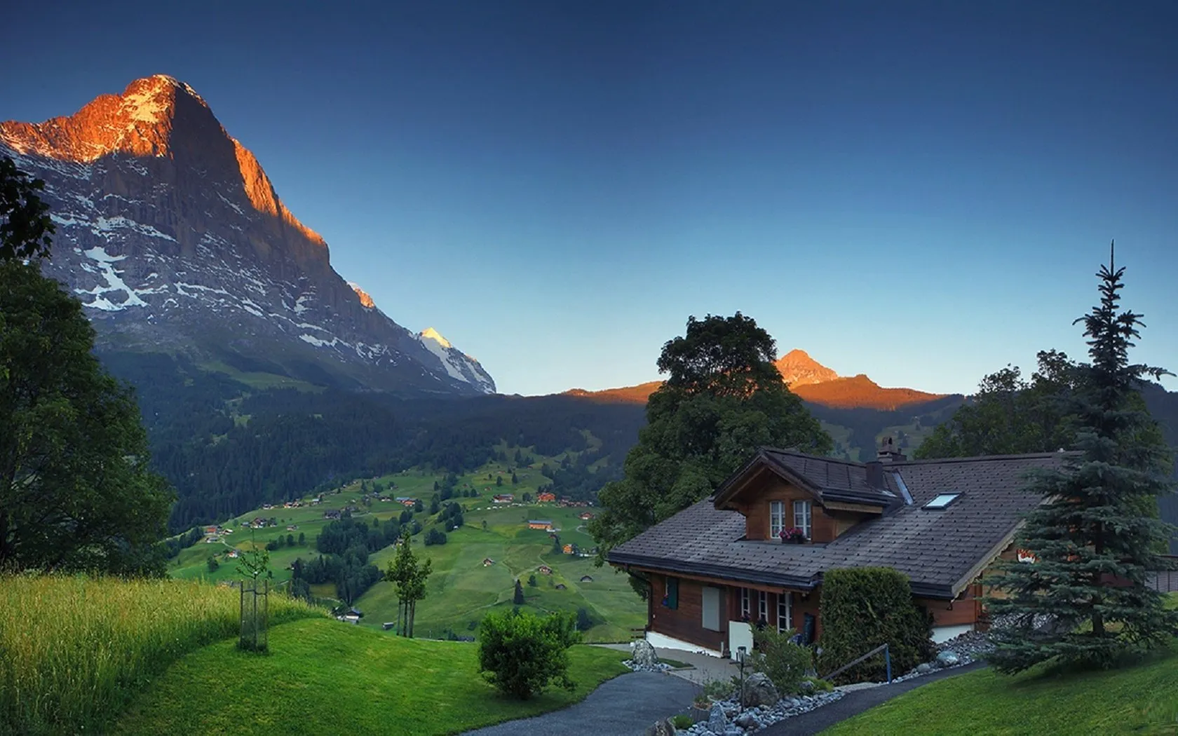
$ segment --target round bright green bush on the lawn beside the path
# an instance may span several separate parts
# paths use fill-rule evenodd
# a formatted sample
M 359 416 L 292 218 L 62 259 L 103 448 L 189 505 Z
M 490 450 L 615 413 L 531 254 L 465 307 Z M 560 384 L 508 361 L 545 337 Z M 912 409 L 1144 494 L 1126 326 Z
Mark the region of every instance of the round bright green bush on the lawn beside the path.
M 527 611 L 488 614 L 478 639 L 478 671 L 504 695 L 525 701 L 549 683 L 576 687 L 569 679 L 569 647 L 581 636 L 567 612 L 543 618 Z

